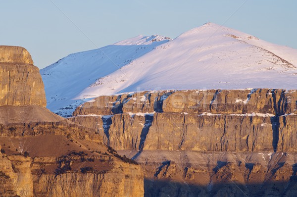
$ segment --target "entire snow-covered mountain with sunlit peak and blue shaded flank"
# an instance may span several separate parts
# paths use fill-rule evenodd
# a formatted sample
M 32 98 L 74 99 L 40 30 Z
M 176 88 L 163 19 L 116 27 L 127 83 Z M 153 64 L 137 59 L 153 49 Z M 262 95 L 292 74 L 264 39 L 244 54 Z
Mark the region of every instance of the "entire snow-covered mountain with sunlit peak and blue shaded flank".
M 145 90 L 297 88 L 297 49 L 206 23 L 170 40 L 138 36 L 70 54 L 41 70 L 48 108 Z

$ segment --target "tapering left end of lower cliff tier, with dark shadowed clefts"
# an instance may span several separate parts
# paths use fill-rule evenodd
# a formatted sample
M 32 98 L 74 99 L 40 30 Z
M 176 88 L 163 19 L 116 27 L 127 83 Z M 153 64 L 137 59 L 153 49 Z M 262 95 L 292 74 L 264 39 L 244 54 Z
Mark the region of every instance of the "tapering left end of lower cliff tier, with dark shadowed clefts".
M 95 129 L 103 137 L 104 144 L 116 150 L 139 150 L 144 148 L 153 114 L 83 115 L 68 119 L 85 127 Z

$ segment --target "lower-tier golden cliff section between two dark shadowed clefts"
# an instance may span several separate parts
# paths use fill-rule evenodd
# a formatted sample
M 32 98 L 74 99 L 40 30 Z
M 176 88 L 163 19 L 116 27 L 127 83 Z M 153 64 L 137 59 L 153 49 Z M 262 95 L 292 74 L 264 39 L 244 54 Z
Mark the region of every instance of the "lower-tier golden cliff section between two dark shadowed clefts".
M 144 149 L 273 151 L 275 122 L 275 117 L 157 113 Z

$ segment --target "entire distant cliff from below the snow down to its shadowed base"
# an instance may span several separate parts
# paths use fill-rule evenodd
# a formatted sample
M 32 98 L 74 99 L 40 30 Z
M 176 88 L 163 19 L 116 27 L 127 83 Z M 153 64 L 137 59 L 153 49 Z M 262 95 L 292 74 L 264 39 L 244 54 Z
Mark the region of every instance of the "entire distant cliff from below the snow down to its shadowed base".
M 142 164 L 145 196 L 290 196 L 296 113 L 295 90 L 193 90 L 99 97 L 69 119 Z

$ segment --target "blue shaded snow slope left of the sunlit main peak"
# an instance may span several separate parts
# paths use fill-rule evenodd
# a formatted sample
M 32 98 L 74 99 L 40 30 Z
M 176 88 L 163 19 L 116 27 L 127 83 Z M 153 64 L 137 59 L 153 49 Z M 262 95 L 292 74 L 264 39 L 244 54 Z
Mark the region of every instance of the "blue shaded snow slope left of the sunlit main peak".
M 85 88 L 169 40 L 158 35 L 140 35 L 100 49 L 73 53 L 58 60 L 40 71 L 45 83 L 47 107 L 54 112 L 60 109 L 71 114 L 84 98 L 97 96 L 82 95 L 82 98 L 73 100 Z

